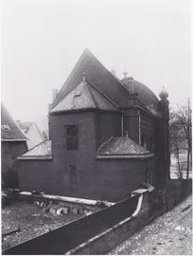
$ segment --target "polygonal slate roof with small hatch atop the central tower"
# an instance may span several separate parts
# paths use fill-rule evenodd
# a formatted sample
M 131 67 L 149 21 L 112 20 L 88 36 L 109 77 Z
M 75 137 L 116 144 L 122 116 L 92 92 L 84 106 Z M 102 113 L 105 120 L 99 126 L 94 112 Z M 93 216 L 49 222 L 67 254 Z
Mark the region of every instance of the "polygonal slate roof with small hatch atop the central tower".
M 79 109 L 117 110 L 114 102 L 108 100 L 104 94 L 99 92 L 94 84 L 82 81 L 52 109 L 51 113 Z

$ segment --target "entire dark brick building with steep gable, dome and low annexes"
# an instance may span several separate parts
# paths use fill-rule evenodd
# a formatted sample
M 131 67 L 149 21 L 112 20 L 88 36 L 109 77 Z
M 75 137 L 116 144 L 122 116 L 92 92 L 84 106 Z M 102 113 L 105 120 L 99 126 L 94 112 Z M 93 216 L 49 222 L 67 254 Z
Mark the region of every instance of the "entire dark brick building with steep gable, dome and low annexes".
M 167 93 L 160 97 L 126 74 L 117 79 L 86 49 L 49 105 L 51 141 L 18 159 L 20 188 L 118 201 L 141 182 L 164 184 Z

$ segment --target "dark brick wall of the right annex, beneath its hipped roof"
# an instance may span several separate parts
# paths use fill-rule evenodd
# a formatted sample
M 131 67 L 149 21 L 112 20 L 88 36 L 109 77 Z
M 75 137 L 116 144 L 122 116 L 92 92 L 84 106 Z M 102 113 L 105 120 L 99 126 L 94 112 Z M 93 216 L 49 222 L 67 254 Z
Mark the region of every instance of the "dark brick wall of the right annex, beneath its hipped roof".
M 96 162 L 96 194 L 101 199 L 118 201 L 131 195 L 141 182 L 147 181 L 152 158 L 98 159 Z

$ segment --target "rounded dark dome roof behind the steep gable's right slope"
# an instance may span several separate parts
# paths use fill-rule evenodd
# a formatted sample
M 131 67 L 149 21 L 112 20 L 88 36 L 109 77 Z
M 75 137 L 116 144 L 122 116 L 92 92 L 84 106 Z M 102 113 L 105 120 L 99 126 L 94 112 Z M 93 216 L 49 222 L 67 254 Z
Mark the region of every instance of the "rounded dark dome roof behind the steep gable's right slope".
M 158 98 L 145 84 L 135 81 L 132 77 L 125 78 L 121 82 L 130 93 L 137 93 L 138 98 L 145 105 L 157 106 Z

